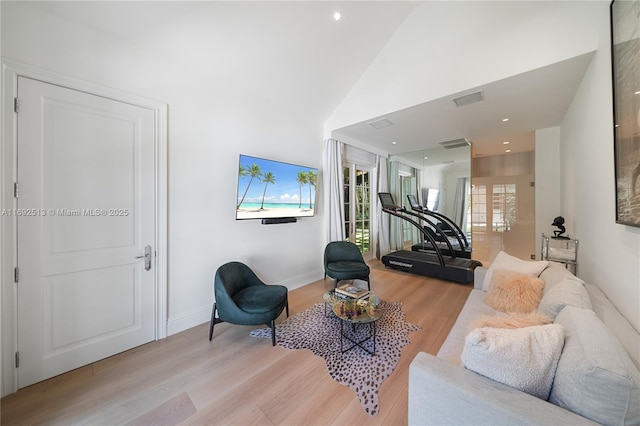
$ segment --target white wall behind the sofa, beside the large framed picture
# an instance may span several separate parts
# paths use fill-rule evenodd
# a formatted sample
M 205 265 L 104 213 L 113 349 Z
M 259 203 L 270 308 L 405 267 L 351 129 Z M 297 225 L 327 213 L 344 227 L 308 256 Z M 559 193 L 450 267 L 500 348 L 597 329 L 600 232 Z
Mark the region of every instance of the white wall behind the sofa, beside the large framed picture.
M 597 6 L 599 50 L 560 126 L 562 215 L 580 239 L 580 277 L 640 330 L 640 228 L 615 223 L 609 6 Z

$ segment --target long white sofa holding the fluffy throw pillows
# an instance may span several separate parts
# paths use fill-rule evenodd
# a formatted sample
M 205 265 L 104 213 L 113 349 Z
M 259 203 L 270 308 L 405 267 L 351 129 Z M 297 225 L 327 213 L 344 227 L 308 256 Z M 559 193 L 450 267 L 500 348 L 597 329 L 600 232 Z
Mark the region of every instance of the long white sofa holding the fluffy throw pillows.
M 614 398 L 618 398 L 618 400 L 615 400 L 613 404 L 609 401 L 603 401 L 615 394 L 620 387 L 614 384 L 613 390 L 610 392 L 606 387 L 594 385 L 594 381 L 591 380 L 593 377 L 582 382 L 584 385 L 580 389 L 579 395 L 573 395 L 574 399 L 578 400 L 578 407 L 571 407 L 573 408 L 573 411 L 571 411 L 568 408 L 561 407 L 560 405 L 563 404 L 558 404 L 558 401 L 554 401 L 556 402 L 555 404 L 545 401 L 461 366 L 460 357 L 464 349 L 465 337 L 471 331 L 472 322 L 482 315 L 499 315 L 483 302 L 486 292 L 482 290 L 482 283 L 486 271 L 487 269 L 485 268 L 476 268 L 474 289 L 471 291 L 462 312 L 437 356 L 421 352 L 411 363 L 409 369 L 408 413 L 410 425 L 606 424 L 609 423 L 609 419 L 606 417 L 611 415 L 612 412 L 615 412 L 612 414 L 613 417 L 616 417 L 616 415 L 618 418 L 625 415 L 629 417 L 629 404 L 634 405 L 631 411 L 637 409 L 637 404 L 640 404 L 640 401 L 627 401 L 625 400 L 627 397 L 615 396 Z M 547 289 L 553 288 L 560 280 L 569 277 L 579 280 L 566 270 L 563 265 L 550 262 L 549 266 L 540 275 L 540 278 L 545 280 L 545 295 Z M 582 282 L 581 280 L 579 281 Z M 627 360 L 630 359 L 630 362 L 625 361 L 625 366 L 631 370 L 632 377 L 629 379 L 627 377 L 629 375 L 625 373 L 621 379 L 625 380 L 625 386 L 630 384 L 631 387 L 634 387 L 631 393 L 625 395 L 631 395 L 631 398 L 636 398 L 638 396 L 638 374 L 640 374 L 638 373 L 638 369 L 640 369 L 640 334 L 617 311 L 598 287 L 590 284 L 584 284 L 584 287 L 587 290 L 588 299 L 590 299 L 591 309 L 595 313 L 595 317 L 599 318 L 605 325 L 603 330 L 610 330 L 615 335 L 615 339 L 624 348 L 623 352 L 628 355 Z M 567 302 L 567 305 L 571 306 L 571 302 Z M 586 309 L 564 308 L 560 314 L 566 316 L 564 314 L 574 311 L 583 312 Z M 584 313 L 590 314 L 589 312 Z M 556 321 L 560 319 L 560 314 L 558 314 Z M 591 316 L 593 317 L 592 314 Z M 595 320 L 598 321 L 597 319 Z M 582 322 L 580 320 L 577 321 L 576 327 L 580 328 Z M 585 323 L 588 322 L 585 321 Z M 590 330 L 582 330 L 581 333 L 584 331 L 586 331 L 585 335 L 590 336 Z M 575 331 L 571 333 L 576 334 Z M 568 353 L 570 352 L 568 348 L 572 347 L 569 342 L 573 346 L 575 346 L 576 342 L 580 343 L 579 338 L 570 335 L 571 333 L 565 331 L 565 343 L 558 362 L 553 387 L 559 387 L 562 378 L 565 376 L 569 376 L 570 379 L 581 379 L 579 377 L 581 373 L 576 373 L 575 371 L 567 372 L 567 368 L 571 370 L 575 364 L 582 363 L 582 360 L 576 360 L 575 353 Z M 609 348 L 610 346 L 615 348 L 619 346 L 597 342 L 595 344 L 596 348 Z M 624 357 L 624 353 L 622 356 Z M 585 356 L 585 358 L 589 357 Z M 563 365 L 563 369 L 561 369 L 561 365 Z M 597 365 L 597 361 L 595 365 L 588 365 L 587 363 L 585 375 L 593 375 L 594 372 L 597 375 L 600 370 L 601 368 Z M 605 398 L 598 396 L 602 395 L 602 392 L 604 392 Z M 625 404 L 627 405 L 626 407 L 624 406 Z M 595 415 L 593 411 L 596 412 Z M 602 411 L 605 412 L 604 420 L 602 417 L 598 417 L 598 413 Z M 584 415 L 592 419 L 595 418 L 597 421 L 594 422 Z M 617 420 L 614 421 L 617 422 Z M 640 418 L 631 415 L 631 418 L 618 422 L 618 424 L 623 423 L 638 424 L 640 423 Z

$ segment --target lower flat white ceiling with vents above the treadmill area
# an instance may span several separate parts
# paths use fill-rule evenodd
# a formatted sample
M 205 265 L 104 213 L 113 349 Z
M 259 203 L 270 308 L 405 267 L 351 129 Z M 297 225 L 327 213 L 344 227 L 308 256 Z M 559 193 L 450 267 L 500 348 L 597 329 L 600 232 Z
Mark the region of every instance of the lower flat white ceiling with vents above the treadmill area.
M 535 130 L 562 122 L 591 57 L 592 54 L 585 54 L 481 87 L 470 87 L 464 92 L 371 117 L 337 129 L 333 135 L 390 154 L 415 152 L 460 138 L 471 141 L 474 157 L 505 154 L 505 149 L 512 153 L 532 151 Z M 461 107 L 453 102 L 454 98 L 476 91 L 482 92 L 484 100 Z M 369 125 L 382 118 L 394 124 L 380 129 Z M 509 121 L 503 122 L 503 118 Z M 505 141 L 509 141 L 508 146 L 503 144 Z

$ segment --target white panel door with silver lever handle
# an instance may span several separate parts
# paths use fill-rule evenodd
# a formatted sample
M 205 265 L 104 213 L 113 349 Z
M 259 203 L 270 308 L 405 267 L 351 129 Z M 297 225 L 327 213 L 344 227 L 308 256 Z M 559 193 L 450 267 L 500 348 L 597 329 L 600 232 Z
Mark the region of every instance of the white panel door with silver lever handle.
M 22 388 L 155 339 L 155 136 L 150 109 L 24 77 L 18 99 Z

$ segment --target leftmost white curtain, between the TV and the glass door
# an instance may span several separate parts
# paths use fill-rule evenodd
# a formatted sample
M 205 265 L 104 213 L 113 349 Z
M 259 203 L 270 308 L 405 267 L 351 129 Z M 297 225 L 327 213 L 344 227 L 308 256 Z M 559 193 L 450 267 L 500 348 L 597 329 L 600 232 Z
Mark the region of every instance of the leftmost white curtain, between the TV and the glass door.
M 342 151 L 344 144 L 335 139 L 327 139 L 322 153 L 324 174 L 324 202 L 327 212 L 326 238 L 331 241 L 344 241 L 344 176 L 342 170 Z

